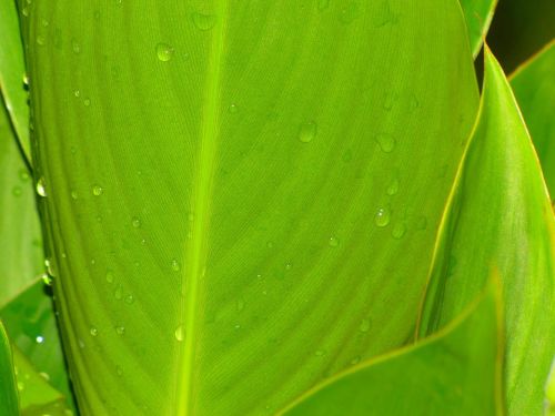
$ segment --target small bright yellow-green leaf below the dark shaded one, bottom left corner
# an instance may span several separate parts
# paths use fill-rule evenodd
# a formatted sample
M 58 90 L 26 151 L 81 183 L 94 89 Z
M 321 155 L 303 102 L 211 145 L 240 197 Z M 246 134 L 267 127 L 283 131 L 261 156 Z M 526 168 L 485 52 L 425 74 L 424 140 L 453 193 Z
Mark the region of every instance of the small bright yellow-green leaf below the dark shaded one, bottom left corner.
M 63 395 L 48 383 L 48 375 L 38 373 L 18 347 L 13 347 L 13 364 L 22 416 L 73 414 L 65 407 Z

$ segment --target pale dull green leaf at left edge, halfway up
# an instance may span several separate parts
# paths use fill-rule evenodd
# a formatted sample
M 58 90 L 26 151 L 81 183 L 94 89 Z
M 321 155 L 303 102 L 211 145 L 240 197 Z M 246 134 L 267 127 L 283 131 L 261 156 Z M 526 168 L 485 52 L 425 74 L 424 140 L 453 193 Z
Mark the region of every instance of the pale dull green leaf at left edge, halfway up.
M 0 105 L 0 307 L 43 273 L 32 177 Z

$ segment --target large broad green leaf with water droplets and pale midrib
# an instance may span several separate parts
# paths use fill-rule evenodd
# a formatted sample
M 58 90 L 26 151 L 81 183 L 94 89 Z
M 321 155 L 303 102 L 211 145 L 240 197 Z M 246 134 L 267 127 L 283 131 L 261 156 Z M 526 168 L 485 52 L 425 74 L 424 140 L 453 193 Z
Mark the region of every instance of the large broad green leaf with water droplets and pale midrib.
M 84 415 L 272 413 L 412 338 L 477 110 L 455 0 L 36 1 L 23 38 Z

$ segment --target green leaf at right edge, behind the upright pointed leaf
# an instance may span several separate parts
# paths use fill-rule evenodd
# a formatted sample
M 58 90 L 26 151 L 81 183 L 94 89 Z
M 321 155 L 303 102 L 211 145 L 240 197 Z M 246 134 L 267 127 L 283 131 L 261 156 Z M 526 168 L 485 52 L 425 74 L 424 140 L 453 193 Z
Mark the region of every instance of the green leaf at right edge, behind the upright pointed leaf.
M 511 85 L 536 148 L 555 203 L 555 41 L 511 77 Z

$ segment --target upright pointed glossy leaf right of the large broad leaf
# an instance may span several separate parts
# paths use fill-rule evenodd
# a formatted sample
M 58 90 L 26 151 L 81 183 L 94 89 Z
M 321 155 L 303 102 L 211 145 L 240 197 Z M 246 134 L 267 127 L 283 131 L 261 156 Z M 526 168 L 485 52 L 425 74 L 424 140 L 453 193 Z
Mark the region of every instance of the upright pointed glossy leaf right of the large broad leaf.
M 498 270 L 509 415 L 538 415 L 555 353 L 555 221 L 502 69 L 487 50 L 481 112 L 444 217 L 421 334 L 446 325 Z

